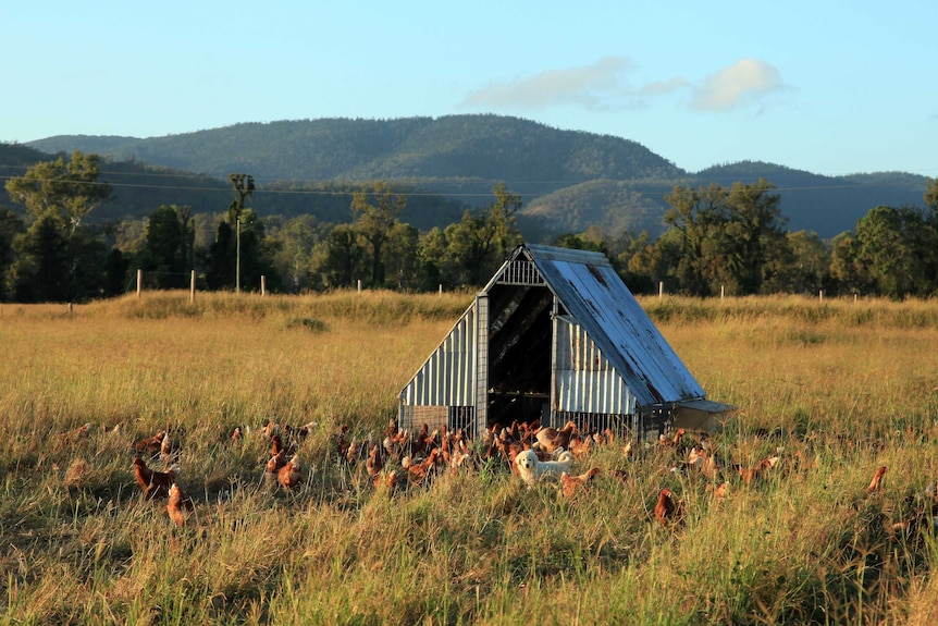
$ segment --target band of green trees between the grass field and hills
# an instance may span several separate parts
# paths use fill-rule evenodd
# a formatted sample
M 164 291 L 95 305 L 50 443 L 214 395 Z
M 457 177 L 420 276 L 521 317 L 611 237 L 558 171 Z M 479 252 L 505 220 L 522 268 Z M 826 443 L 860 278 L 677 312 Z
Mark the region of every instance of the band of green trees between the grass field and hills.
M 86 223 L 111 197 L 100 158 L 74 152 L 29 168 L 5 188 L 25 208 L 0 208 L 0 300 L 82 302 L 126 293 L 137 269 L 148 289 L 319 292 L 361 284 L 399 291 L 484 284 L 522 242 L 521 196 L 496 184 L 492 200 L 445 228 L 402 222 L 407 196 L 378 181 L 350 194 L 348 221 L 261 219 L 249 174 L 229 176 L 233 200 L 217 214 L 161 205 L 145 220 Z M 590 229 L 546 242 L 604 253 L 634 293 L 693 296 L 824 292 L 891 298 L 938 293 L 938 182 L 924 207 L 875 207 L 831 241 L 787 232 L 780 196 L 763 179 L 729 187 L 676 185 L 665 232 Z

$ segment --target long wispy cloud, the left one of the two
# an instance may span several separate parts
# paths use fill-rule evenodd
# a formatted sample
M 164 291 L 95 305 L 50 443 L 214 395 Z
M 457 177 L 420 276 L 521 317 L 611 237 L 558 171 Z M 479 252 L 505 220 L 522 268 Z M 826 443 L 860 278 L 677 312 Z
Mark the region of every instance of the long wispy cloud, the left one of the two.
M 645 96 L 686 85 L 683 79 L 672 78 L 635 89 L 628 85 L 626 77 L 631 67 L 625 57 L 605 57 L 591 65 L 547 70 L 529 77 L 492 83 L 469 93 L 462 106 L 530 110 L 577 105 L 594 110 L 619 109 L 635 106 Z

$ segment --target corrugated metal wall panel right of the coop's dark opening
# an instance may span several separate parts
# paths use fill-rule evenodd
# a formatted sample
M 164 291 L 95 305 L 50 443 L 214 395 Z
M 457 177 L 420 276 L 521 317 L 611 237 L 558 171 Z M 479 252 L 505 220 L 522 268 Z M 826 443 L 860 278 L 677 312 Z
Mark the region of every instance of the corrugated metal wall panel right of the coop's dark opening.
M 631 415 L 635 398 L 583 328 L 558 317 L 554 372 L 555 412 Z

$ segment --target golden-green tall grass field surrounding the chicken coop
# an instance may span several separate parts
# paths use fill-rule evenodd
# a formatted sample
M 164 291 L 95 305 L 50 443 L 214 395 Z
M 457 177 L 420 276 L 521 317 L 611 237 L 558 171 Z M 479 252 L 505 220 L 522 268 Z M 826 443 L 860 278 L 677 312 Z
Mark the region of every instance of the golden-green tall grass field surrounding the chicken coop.
M 892 529 L 938 479 L 938 304 L 641 299 L 739 406 L 709 438 L 723 501 L 669 471 L 686 451 L 618 444 L 575 463 L 604 470 L 575 499 L 497 464 L 375 490 L 335 432 L 380 433 L 471 297 L 0 305 L 0 623 L 938 623 L 935 533 Z M 293 492 L 264 480 L 269 420 L 317 422 Z M 134 478 L 131 446 L 161 429 L 195 501 L 183 527 Z M 731 469 L 767 454 L 762 481 Z M 663 487 L 678 527 L 652 516 Z

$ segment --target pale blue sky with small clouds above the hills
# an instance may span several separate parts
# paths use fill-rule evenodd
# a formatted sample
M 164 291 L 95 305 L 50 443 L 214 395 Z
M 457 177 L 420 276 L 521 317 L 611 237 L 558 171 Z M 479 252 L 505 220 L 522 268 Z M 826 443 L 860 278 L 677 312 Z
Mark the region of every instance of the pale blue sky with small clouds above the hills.
M 695 172 L 938 177 L 925 1 L 86 3 L 0 8 L 0 142 L 498 113 Z

